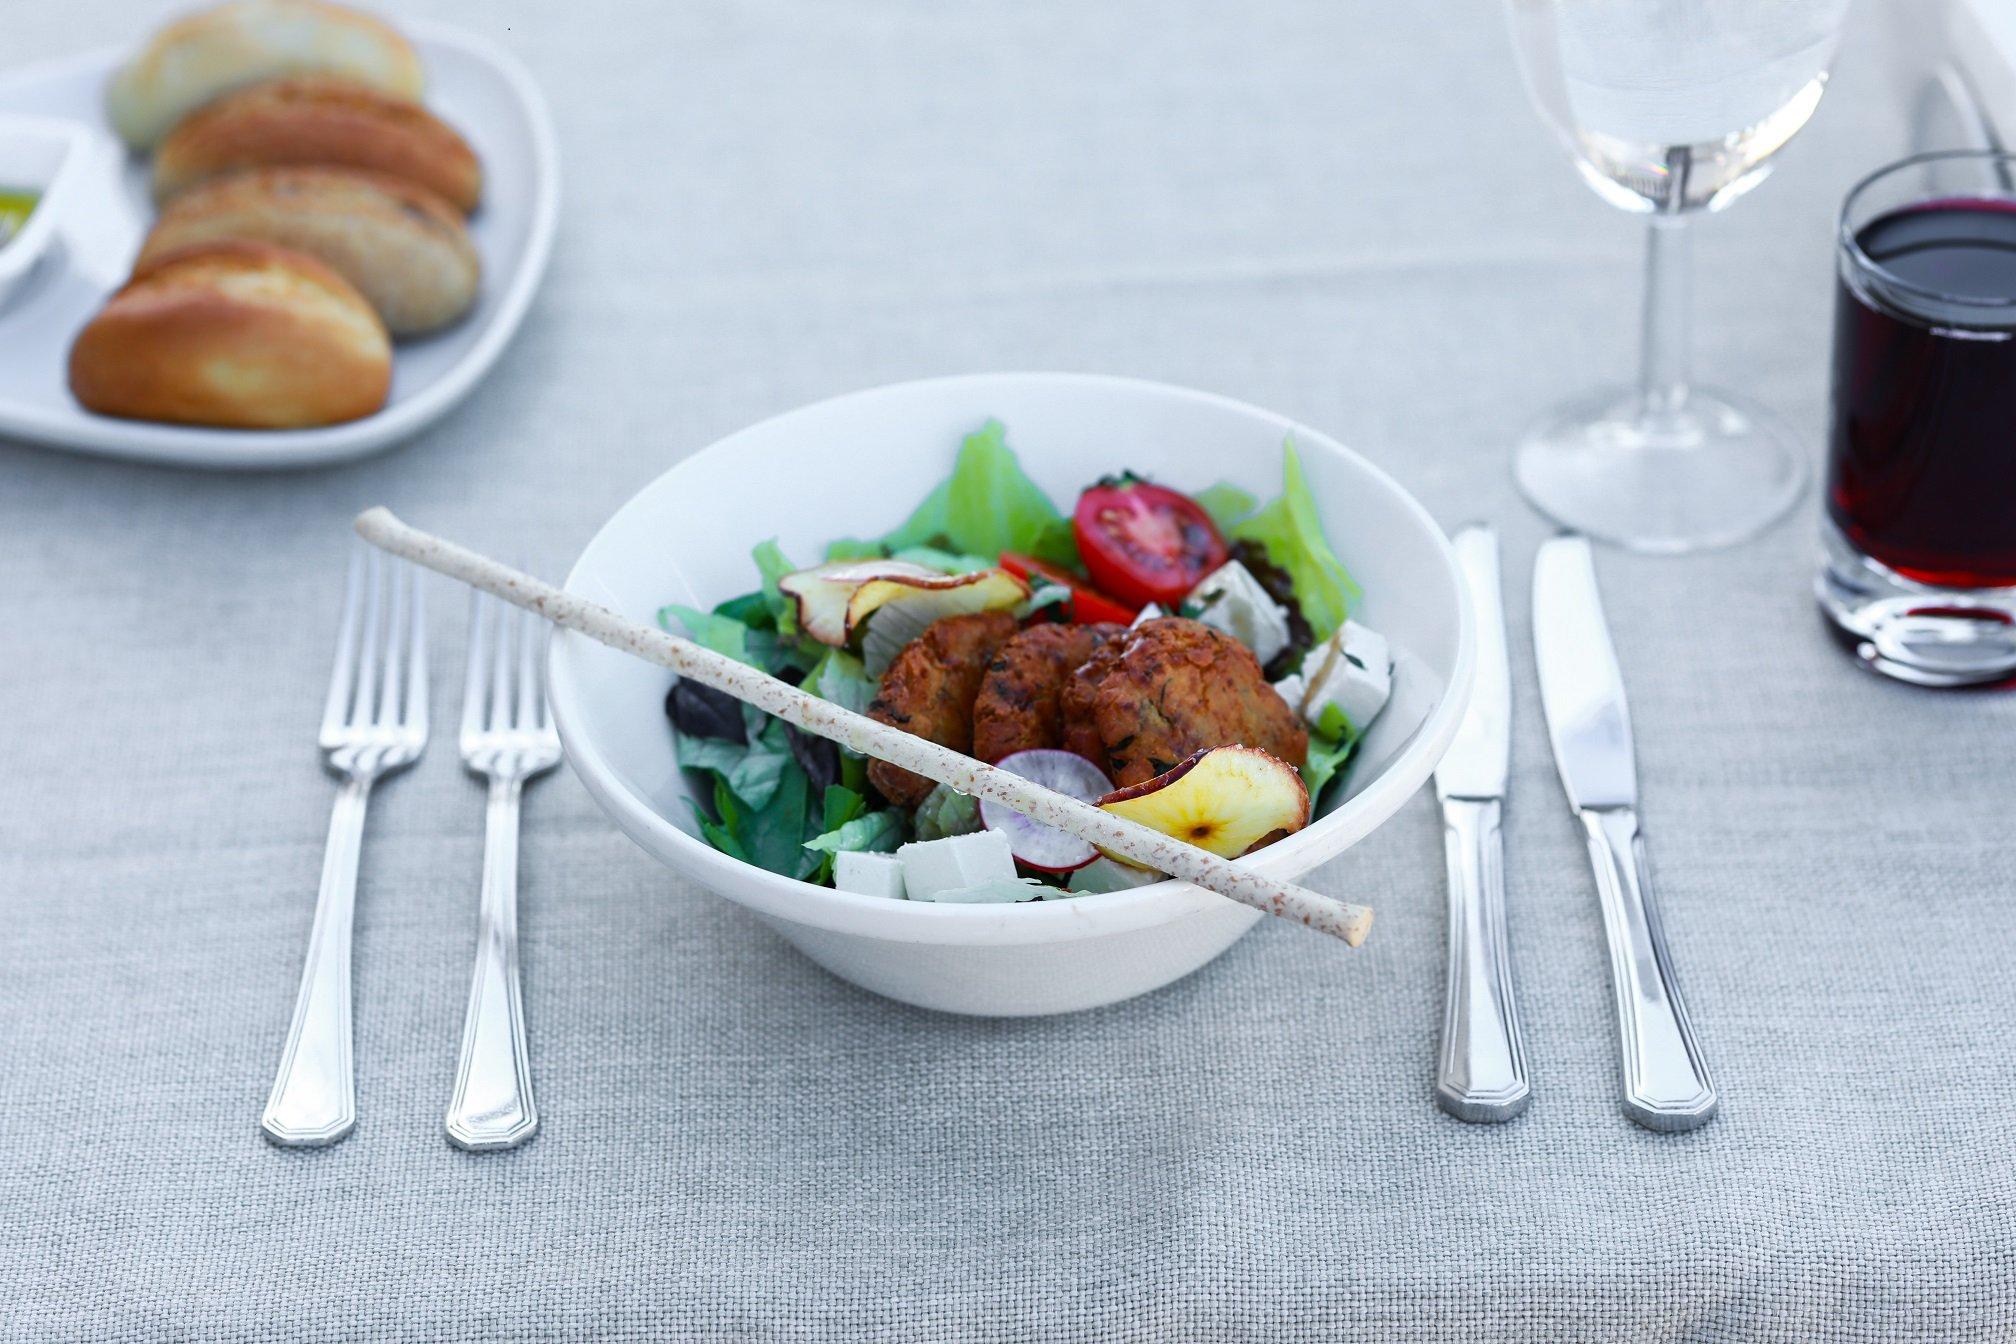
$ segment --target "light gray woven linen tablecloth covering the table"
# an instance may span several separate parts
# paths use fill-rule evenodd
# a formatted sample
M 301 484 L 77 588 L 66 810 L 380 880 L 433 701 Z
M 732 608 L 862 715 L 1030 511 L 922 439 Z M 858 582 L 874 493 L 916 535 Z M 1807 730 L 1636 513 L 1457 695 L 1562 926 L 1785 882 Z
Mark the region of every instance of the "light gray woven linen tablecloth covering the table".
M 304 476 L 0 447 L 0 1336 L 2016 1338 L 2016 701 L 1855 671 L 1808 596 L 1810 502 L 1726 554 L 1601 560 L 1726 1088 L 1697 1134 L 1619 1116 L 1526 637 L 1544 528 L 1506 445 L 1627 375 L 1641 226 L 1574 181 L 1496 6 L 399 10 L 514 48 L 560 127 L 552 270 L 468 407 Z M 16 0 L 4 58 L 155 16 Z M 1879 46 L 1699 230 L 1704 375 L 1814 453 L 1833 208 L 1903 139 Z M 439 1120 L 482 794 L 437 737 L 365 850 L 357 1132 L 270 1149 L 351 514 L 558 572 L 756 417 L 1026 367 L 1276 407 L 1441 522 L 1504 526 L 1530 1114 L 1429 1098 L 1429 798 L 1310 879 L 1379 907 L 1355 955 L 1262 927 L 1161 993 L 978 1022 L 816 971 L 562 774 L 524 834 L 544 1130 L 466 1157 Z M 446 719 L 462 609 L 435 598 Z

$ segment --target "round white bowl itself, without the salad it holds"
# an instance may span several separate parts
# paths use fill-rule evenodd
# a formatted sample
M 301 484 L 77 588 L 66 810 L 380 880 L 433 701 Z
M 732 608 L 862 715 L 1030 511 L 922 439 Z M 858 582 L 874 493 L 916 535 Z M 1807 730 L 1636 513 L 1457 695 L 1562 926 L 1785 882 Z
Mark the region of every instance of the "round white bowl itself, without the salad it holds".
M 1325 814 L 1244 862 L 1302 875 L 1363 840 L 1421 788 L 1456 733 L 1472 675 L 1470 611 L 1447 540 L 1357 453 L 1282 415 L 1208 393 L 1000 373 L 823 401 L 734 433 L 645 486 L 589 542 L 566 586 L 645 623 L 665 602 L 712 607 L 748 592 L 758 582 L 756 542 L 776 536 L 788 556 L 810 564 L 837 536 L 887 532 L 948 474 L 960 439 L 990 417 L 1006 423 L 1022 465 L 1066 510 L 1091 480 L 1123 467 L 1181 490 L 1230 480 L 1272 498 L 1292 433 L 1325 530 L 1365 588 L 1357 615 L 1387 635 L 1399 671 L 1393 701 Z M 744 864 L 694 828 L 663 719 L 669 683 L 649 663 L 560 635 L 550 689 L 566 760 L 637 844 L 875 993 L 986 1016 L 1097 1007 L 1187 975 L 1260 919 L 1185 883 L 1024 905 L 933 905 L 812 887 Z M 1381 897 L 1339 895 L 1367 905 Z

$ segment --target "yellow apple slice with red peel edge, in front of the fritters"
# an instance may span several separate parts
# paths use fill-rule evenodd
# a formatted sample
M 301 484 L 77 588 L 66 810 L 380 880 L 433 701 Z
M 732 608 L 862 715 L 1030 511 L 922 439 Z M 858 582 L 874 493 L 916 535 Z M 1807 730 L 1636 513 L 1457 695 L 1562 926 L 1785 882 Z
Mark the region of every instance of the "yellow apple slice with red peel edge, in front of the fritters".
M 1274 832 L 1308 824 L 1302 776 L 1256 748 L 1195 752 L 1153 780 L 1107 794 L 1099 806 L 1220 858 L 1238 858 Z

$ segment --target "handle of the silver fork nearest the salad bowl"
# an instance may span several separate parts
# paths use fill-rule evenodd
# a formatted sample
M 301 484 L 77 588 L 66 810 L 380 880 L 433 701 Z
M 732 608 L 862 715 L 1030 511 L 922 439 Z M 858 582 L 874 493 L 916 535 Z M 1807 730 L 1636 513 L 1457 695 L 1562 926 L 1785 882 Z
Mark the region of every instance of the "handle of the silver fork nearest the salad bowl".
M 448 1140 L 488 1153 L 516 1149 L 538 1128 L 532 1064 L 518 993 L 518 798 L 520 780 L 490 780 L 484 824 L 484 895 L 476 923 L 476 971 L 462 1018 Z

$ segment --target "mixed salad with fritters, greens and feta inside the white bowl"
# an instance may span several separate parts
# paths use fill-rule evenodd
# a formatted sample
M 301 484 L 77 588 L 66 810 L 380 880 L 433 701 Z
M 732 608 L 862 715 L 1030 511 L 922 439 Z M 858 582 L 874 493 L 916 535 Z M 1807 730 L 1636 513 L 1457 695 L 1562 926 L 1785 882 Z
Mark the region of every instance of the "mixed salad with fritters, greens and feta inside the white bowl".
M 774 540 L 748 592 L 667 604 L 671 633 L 837 705 L 1226 858 L 1308 824 L 1385 707 L 1393 659 L 1351 619 L 1294 439 L 1272 500 L 1117 469 L 1058 504 L 1000 419 L 895 530 Z M 665 717 L 724 854 L 897 901 L 1020 903 L 1163 875 L 869 760 L 698 681 Z

